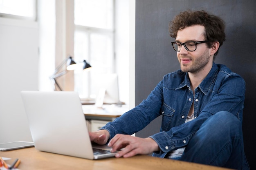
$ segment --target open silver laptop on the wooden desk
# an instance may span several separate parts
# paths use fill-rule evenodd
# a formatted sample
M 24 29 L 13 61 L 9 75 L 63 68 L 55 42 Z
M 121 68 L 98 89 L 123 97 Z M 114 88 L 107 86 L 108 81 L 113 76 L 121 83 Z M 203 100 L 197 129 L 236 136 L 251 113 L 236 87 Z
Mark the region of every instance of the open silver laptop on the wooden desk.
M 37 150 L 85 159 L 114 157 L 110 148 L 92 148 L 78 93 L 22 91 L 21 96 Z

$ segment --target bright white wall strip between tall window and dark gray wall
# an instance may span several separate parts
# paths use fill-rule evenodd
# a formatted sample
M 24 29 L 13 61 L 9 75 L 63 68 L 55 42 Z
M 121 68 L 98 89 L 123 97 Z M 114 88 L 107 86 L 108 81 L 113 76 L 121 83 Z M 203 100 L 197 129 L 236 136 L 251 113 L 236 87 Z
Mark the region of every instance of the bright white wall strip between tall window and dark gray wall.
M 135 106 L 135 0 L 116 0 L 115 56 L 120 100 Z

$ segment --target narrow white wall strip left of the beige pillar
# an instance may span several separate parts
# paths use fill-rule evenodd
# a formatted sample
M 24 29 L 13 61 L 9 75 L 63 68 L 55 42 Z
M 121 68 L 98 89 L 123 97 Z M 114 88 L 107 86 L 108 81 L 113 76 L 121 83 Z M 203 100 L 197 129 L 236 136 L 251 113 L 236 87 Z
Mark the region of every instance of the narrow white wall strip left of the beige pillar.
M 38 0 L 39 91 L 53 91 L 49 77 L 55 71 L 56 18 L 54 0 Z

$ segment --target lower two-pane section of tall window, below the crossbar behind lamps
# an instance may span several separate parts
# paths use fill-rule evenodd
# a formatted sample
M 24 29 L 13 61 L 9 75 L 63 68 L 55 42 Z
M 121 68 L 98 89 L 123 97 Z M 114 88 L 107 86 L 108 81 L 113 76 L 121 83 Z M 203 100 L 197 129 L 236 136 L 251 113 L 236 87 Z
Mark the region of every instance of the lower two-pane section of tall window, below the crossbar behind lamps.
M 92 66 L 90 72 L 82 71 L 82 69 L 74 71 L 74 90 L 79 92 L 80 95 L 95 97 L 99 89 L 95 89 L 94 84 L 99 82 L 99 74 L 112 73 L 112 36 L 105 34 L 101 35 L 98 33 L 91 33 L 89 35 L 86 32 L 75 31 L 74 38 L 75 61 L 82 62 L 83 60 L 86 60 Z

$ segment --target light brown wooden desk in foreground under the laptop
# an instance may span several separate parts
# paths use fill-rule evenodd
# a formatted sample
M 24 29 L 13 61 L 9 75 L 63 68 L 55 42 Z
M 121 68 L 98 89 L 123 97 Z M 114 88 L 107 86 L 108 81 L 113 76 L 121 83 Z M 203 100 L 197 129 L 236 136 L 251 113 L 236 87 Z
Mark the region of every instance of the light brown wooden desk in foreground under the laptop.
M 108 158 L 88 160 L 65 155 L 41 152 L 33 148 L 0 151 L 1 157 L 11 164 L 16 158 L 21 163 L 20 170 L 225 170 L 213 166 L 161 159 L 146 155 L 130 158 Z

